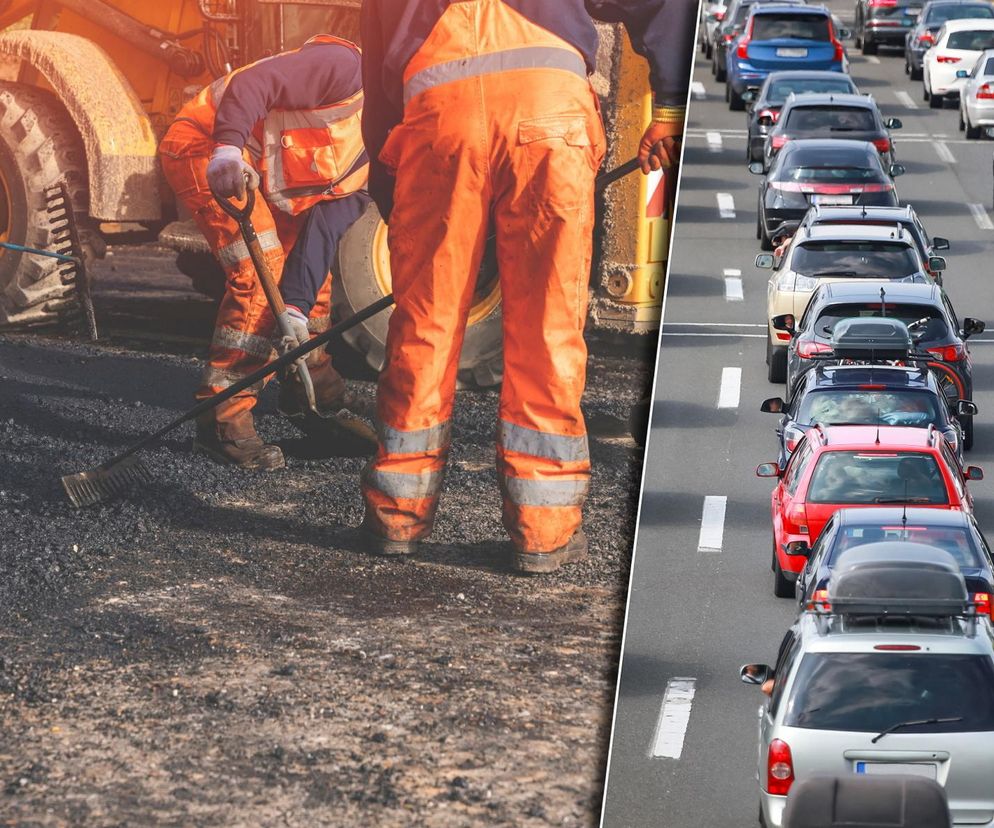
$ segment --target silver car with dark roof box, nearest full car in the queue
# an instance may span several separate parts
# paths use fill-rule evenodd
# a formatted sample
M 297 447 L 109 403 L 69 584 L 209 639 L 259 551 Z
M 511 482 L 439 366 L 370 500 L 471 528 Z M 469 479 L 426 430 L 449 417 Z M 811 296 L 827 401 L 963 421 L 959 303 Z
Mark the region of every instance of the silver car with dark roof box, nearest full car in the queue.
M 948 553 L 894 546 L 847 550 L 829 604 L 801 613 L 775 672 L 742 668 L 744 682 L 771 692 L 759 709 L 757 772 L 768 828 L 783 825 L 794 782 L 853 773 L 934 779 L 954 824 L 994 825 L 989 619 L 976 615 Z

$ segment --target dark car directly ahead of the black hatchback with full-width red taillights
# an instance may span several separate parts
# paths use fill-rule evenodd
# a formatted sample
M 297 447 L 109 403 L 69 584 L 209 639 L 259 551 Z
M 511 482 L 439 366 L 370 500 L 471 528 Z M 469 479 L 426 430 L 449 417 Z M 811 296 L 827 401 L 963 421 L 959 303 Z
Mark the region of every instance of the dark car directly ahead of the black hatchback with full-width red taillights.
M 897 118 L 884 120 L 869 95 L 805 93 L 791 95 L 764 145 L 766 165 L 790 141 L 800 138 L 840 138 L 869 141 L 887 169 L 894 163 L 891 129 L 903 126 Z

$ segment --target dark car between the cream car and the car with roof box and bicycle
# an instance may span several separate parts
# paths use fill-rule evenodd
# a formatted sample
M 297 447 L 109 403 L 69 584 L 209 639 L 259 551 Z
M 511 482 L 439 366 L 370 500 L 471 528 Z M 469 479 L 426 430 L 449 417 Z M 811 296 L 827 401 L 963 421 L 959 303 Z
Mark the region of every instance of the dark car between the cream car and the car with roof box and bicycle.
M 881 291 L 883 296 L 881 297 Z M 945 292 L 936 284 L 878 280 L 819 285 L 800 323 L 777 317 L 774 327 L 790 334 L 787 347 L 787 393 L 803 374 L 832 353 L 832 332 L 842 320 L 886 316 L 908 326 L 915 348 L 928 353 L 950 406 L 973 399 L 973 362 L 966 340 L 984 331 L 979 319 L 966 317 L 962 328 Z M 814 359 L 813 359 L 814 357 Z M 973 417 L 962 417 L 963 447 L 973 446 Z

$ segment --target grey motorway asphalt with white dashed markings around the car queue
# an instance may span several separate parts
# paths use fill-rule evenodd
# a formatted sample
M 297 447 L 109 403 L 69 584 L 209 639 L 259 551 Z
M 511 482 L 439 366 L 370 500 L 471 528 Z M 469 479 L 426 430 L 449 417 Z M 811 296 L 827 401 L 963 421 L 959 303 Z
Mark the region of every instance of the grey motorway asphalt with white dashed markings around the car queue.
M 829 6 L 851 23 L 851 5 Z M 876 97 L 885 117 L 904 122 L 894 133 L 908 170 L 898 193 L 930 233 L 952 242 L 946 289 L 954 306 L 991 323 L 972 348 L 981 414 L 968 459 L 994 480 L 994 142 L 966 141 L 955 109 L 928 109 L 900 52 L 865 58 L 849 49 L 861 91 Z M 759 179 L 745 166 L 745 115 L 728 110 L 699 52 L 688 126 L 607 826 L 755 824 L 761 696 L 740 684 L 738 668 L 772 661 L 793 617 L 793 602 L 772 591 L 772 487 L 753 476 L 756 464 L 776 457 L 776 417 L 759 405 L 783 394 L 766 381 L 768 271 L 753 264 Z M 994 485 L 972 489 L 990 533 Z

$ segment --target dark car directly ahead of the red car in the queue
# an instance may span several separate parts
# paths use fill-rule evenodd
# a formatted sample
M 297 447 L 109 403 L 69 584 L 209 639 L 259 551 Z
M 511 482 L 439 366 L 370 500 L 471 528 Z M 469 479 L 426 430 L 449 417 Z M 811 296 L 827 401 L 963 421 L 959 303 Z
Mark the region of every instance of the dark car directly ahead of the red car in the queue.
M 935 374 L 923 365 L 820 364 L 801 377 L 789 402 L 771 397 L 760 410 L 781 415 L 777 426 L 781 468 L 786 468 L 794 448 L 816 423 L 934 426 L 957 457 L 962 454 L 959 420 Z M 972 416 L 976 412 L 975 403 L 957 401 L 956 413 Z

